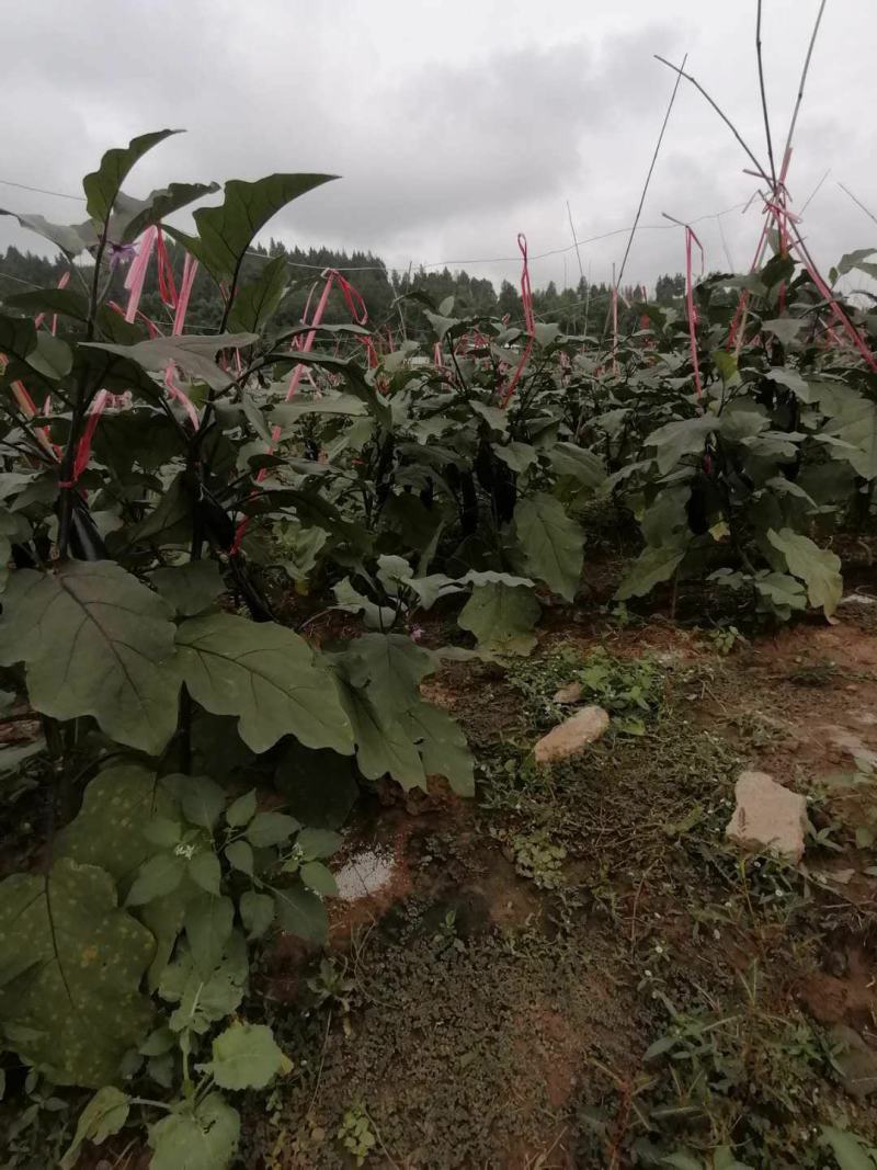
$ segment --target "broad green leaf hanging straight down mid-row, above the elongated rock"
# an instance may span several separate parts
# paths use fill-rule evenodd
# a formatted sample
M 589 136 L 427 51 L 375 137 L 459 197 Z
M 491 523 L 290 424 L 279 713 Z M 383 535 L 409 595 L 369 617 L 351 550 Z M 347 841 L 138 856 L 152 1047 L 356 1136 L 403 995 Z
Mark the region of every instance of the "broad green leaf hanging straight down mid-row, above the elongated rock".
M 515 529 L 531 577 L 572 601 L 581 579 L 585 534 L 564 505 L 544 491 L 520 500 Z

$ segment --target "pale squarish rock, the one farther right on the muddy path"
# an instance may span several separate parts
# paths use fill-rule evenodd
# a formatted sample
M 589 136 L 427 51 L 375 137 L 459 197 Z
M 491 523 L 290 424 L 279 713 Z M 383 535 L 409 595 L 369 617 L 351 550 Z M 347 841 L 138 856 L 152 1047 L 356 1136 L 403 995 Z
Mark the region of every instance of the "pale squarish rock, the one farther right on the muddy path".
M 793 863 L 803 856 L 807 801 L 767 772 L 741 772 L 734 787 L 737 807 L 725 837 L 740 845 L 769 848 Z

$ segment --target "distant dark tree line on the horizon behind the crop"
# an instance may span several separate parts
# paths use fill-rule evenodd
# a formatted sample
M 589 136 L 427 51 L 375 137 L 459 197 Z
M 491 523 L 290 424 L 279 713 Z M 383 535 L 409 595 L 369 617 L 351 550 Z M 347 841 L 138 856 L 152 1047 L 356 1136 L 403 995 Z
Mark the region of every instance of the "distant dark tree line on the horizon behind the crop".
M 184 248 L 166 238 L 167 255 L 174 280 L 179 285 L 185 259 Z M 374 328 L 387 328 L 394 337 L 405 335 L 409 338 L 424 339 L 430 336 L 429 323 L 424 316 L 423 304 L 406 294 L 426 294 L 438 305 L 447 297 L 454 297 L 454 316 L 507 317 L 511 324 L 520 325 L 524 321 L 520 290 L 517 284 L 504 280 L 497 292 L 492 281 L 486 277 L 470 276 L 467 271 L 451 271 L 449 268 L 429 270 L 424 268 L 412 271 L 389 270 L 384 261 L 371 252 L 337 252 L 331 248 L 288 248 L 282 242 L 271 240 L 269 246 L 257 246 L 247 256 L 241 281 L 246 283 L 258 275 L 264 263 L 283 255 L 290 263 L 290 291 L 279 314 L 278 324 L 290 325 L 302 319 L 309 297 L 311 308 L 323 288 L 320 273 L 325 268 L 338 268 L 362 297 L 368 311 L 370 323 Z M 62 255 L 54 260 L 20 252 L 9 247 L 6 254 L 0 254 L 0 297 L 25 291 L 28 287 L 50 285 L 57 283 L 68 264 Z M 111 276 L 110 300 L 124 307 L 127 292 L 124 288 L 125 267 L 119 266 Z M 74 280 L 75 287 L 76 281 Z M 635 285 L 620 290 L 621 328 L 636 328 L 635 317 L 626 305 L 641 301 L 644 289 Z M 660 276 L 656 284 L 656 296 L 660 303 L 678 301 L 685 291 L 685 278 L 682 275 Z M 558 289 L 550 281 L 543 289 L 533 290 L 533 311 L 537 321 L 555 322 L 565 333 L 573 336 L 587 331 L 600 335 L 607 328 L 612 308 L 612 287 L 605 283 L 591 284 L 582 277 L 576 285 Z M 173 310 L 163 304 L 159 295 L 158 273 L 156 263 L 150 269 L 140 301 L 140 310 L 152 318 L 160 328 L 168 328 L 173 319 Z M 222 301 L 214 281 L 199 269 L 192 289 L 186 331 L 210 331 L 216 329 L 222 316 Z M 338 324 L 350 321 L 350 309 L 341 294 L 333 288 L 324 321 Z

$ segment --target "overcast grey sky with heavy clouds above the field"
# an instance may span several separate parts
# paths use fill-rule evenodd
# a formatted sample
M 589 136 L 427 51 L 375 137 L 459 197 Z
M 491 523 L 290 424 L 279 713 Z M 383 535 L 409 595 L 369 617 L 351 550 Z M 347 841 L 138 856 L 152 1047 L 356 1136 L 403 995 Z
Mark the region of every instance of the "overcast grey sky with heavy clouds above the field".
M 764 7 L 780 151 L 819 0 Z M 6 0 L 0 179 L 75 194 L 106 146 L 182 126 L 138 166 L 132 194 L 327 171 L 343 178 L 294 204 L 270 234 L 496 281 L 518 278 L 518 232 L 531 255 L 569 247 L 568 200 L 581 240 L 619 232 L 581 247 L 586 274 L 608 280 L 672 89 L 654 54 L 688 53 L 766 161 L 754 14 L 754 0 Z M 826 264 L 877 243 L 877 225 L 837 186 L 877 208 L 876 43 L 875 0 L 828 0 L 789 176 L 800 208 L 830 168 L 805 220 Z M 741 213 L 757 186 L 746 165 L 683 82 L 628 276 L 651 283 L 682 268 L 681 230 L 654 227 L 662 212 L 699 221 L 707 268 L 728 256 L 747 267 L 760 222 L 758 208 Z M 82 219 L 72 200 L 2 184 L 0 206 Z M 42 246 L 0 218 L 0 248 L 9 243 Z M 573 250 L 531 268 L 534 284 L 578 280 Z

